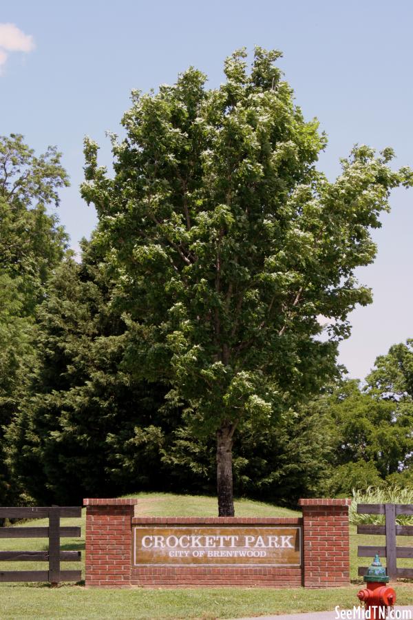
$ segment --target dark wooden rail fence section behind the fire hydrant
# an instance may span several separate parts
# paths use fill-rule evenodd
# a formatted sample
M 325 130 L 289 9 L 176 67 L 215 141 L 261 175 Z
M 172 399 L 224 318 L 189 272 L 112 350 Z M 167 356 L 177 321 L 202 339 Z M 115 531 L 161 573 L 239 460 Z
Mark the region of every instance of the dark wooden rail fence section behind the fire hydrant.
M 412 536 L 413 526 L 396 525 L 397 515 L 413 515 L 413 504 L 359 504 L 357 513 L 362 515 L 385 515 L 385 525 L 359 525 L 357 534 L 385 536 L 385 546 L 359 546 L 359 557 L 372 557 L 376 553 L 386 559 L 390 579 L 413 578 L 413 568 L 397 568 L 397 558 L 413 558 L 413 547 L 398 547 L 396 536 Z M 359 575 L 366 575 L 367 567 L 359 567 Z

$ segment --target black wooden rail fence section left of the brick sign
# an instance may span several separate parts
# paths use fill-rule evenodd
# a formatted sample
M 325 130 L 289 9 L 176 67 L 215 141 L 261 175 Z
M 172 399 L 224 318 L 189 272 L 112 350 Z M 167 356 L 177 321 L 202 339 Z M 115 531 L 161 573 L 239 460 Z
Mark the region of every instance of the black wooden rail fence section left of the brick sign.
M 41 508 L 0 508 L 0 518 L 8 519 L 49 519 L 48 527 L 3 527 L 1 538 L 48 538 L 47 551 L 0 551 L 0 561 L 44 562 L 48 570 L 0 570 L 1 581 L 80 581 L 81 570 L 61 570 L 61 561 L 81 561 L 80 551 L 61 551 L 60 539 L 80 537 L 81 528 L 61 527 L 61 517 L 80 517 L 80 506 L 45 506 Z

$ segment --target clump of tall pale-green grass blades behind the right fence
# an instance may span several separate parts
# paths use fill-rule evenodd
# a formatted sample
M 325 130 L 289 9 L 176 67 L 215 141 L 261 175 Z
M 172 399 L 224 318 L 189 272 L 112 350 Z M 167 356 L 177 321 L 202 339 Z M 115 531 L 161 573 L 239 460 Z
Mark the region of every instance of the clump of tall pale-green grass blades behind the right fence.
M 383 525 L 384 515 L 359 515 L 358 504 L 413 504 L 413 488 L 401 486 L 369 486 L 366 490 L 352 491 L 352 502 L 349 510 L 350 523 Z M 413 515 L 397 515 L 399 525 L 413 525 Z

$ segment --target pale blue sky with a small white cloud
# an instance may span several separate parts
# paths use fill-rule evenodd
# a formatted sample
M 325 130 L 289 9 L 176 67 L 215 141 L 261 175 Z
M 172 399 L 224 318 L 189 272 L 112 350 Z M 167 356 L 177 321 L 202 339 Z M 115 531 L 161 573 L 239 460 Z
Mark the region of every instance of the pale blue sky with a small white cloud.
M 410 0 L 0 0 L 0 134 L 23 134 L 44 152 L 57 145 L 71 187 L 59 216 L 78 249 L 96 225 L 79 196 L 83 138 L 102 146 L 120 132 L 132 89 L 173 83 L 194 65 L 211 87 L 224 58 L 254 45 L 282 50 L 279 62 L 306 118 L 328 134 L 319 167 L 328 178 L 355 143 L 391 146 L 413 167 L 413 3 Z M 397 189 L 374 231 L 378 254 L 357 270 L 374 302 L 350 315 L 339 362 L 363 379 L 377 355 L 413 337 L 413 189 Z

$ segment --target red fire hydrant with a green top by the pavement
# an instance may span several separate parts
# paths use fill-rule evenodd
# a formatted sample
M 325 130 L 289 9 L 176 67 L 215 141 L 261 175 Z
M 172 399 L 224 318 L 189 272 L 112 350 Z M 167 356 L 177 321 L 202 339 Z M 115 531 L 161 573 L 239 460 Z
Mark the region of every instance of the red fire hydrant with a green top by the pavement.
M 387 617 L 388 608 L 392 608 L 396 602 L 396 592 L 389 586 L 383 586 L 388 583 L 390 577 L 385 574 L 385 568 L 381 565 L 379 556 L 376 554 L 372 564 L 368 568 L 363 581 L 367 586 L 360 590 L 357 595 L 365 605 L 365 618 L 370 620 L 379 620 Z

